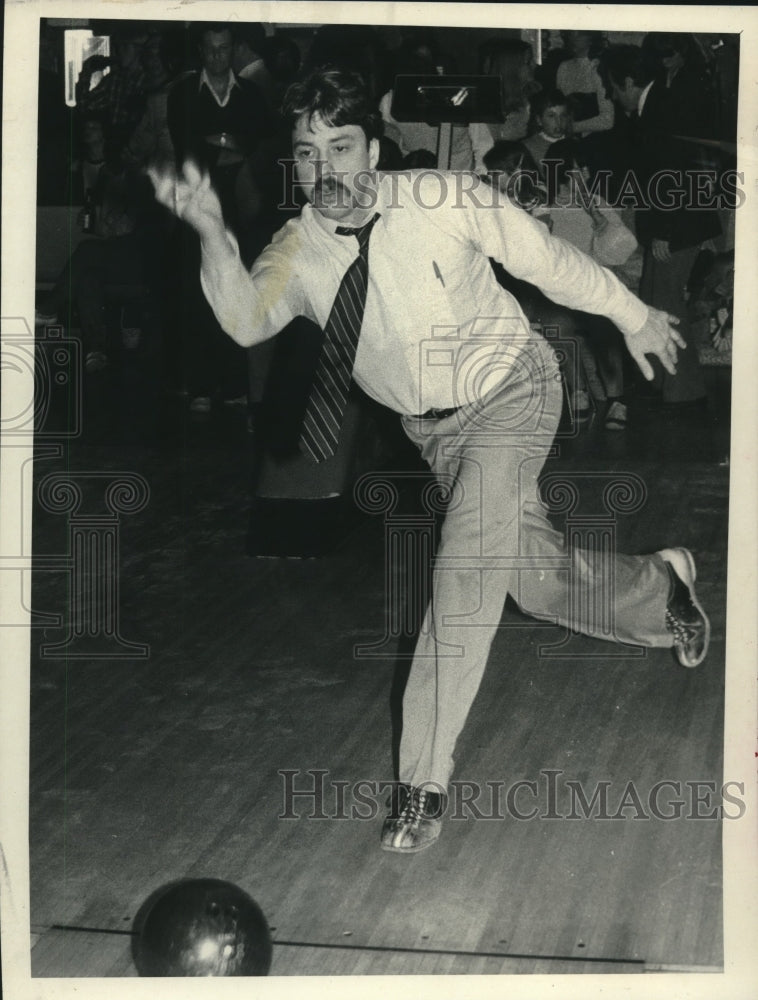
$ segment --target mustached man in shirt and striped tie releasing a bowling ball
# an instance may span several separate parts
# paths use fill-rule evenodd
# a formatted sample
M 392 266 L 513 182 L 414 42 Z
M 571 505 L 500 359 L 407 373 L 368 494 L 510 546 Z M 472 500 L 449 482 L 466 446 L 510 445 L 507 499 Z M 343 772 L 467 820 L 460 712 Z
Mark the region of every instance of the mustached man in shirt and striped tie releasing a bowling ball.
M 329 461 L 350 379 L 401 415 L 440 481 L 454 486 L 403 700 L 400 784 L 385 850 L 415 852 L 439 836 L 453 754 L 479 687 L 507 594 L 536 618 L 591 631 L 569 610 L 570 580 L 613 595 L 619 641 L 673 648 L 686 667 L 710 627 L 685 549 L 614 554 L 600 571 L 545 517 L 537 477 L 561 412 L 558 364 L 489 258 L 569 309 L 608 317 L 646 378 L 647 355 L 676 368 L 677 320 L 470 174 L 376 171 L 381 119 L 359 77 L 317 70 L 288 91 L 297 179 L 308 199 L 248 272 L 207 177 L 154 173 L 158 199 L 193 226 L 201 279 L 237 343 L 273 337 L 295 316 L 325 331 L 301 447 Z M 518 557 L 518 563 L 509 559 Z M 572 562 L 572 571 L 555 568 Z M 349 584 L 347 584 L 349 585 Z

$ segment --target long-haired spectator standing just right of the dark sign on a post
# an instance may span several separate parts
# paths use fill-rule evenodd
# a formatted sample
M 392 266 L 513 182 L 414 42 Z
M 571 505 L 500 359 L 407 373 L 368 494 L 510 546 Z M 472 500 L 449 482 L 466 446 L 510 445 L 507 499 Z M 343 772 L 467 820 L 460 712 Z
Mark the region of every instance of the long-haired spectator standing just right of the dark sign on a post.
M 474 169 L 485 169 L 484 154 L 499 140 L 518 141 L 529 134 L 530 101 L 539 93 L 534 76 L 534 53 L 529 42 L 503 38 L 485 42 L 479 52 L 479 70 L 485 76 L 500 77 L 502 122 L 469 125 L 474 151 Z

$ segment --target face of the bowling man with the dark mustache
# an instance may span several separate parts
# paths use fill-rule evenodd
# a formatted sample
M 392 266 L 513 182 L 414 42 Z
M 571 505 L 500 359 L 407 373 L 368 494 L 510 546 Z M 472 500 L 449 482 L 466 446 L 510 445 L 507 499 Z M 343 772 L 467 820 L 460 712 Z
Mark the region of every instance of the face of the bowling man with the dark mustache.
M 305 197 L 327 219 L 350 221 L 368 207 L 356 175 L 374 170 L 379 142 L 366 140 L 360 125 L 326 125 L 316 113 L 302 115 L 292 133 L 295 173 Z

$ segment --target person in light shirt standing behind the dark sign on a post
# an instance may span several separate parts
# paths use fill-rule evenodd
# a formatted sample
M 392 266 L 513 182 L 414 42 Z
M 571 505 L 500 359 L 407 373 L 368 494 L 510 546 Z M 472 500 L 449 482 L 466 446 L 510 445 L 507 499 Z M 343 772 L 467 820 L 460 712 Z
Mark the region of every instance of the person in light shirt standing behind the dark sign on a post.
M 429 32 L 414 32 L 404 39 L 397 53 L 397 75 L 433 76 L 442 70 L 442 62 L 434 37 Z M 388 90 L 379 102 L 384 120 L 384 133 L 400 147 L 403 156 L 426 150 L 433 153 L 437 165 L 439 126 L 425 122 L 399 122 L 392 116 L 394 88 Z M 451 133 L 450 169 L 470 170 L 474 164 L 471 139 L 465 125 L 453 125 Z M 440 164 L 447 169 L 448 164 Z

